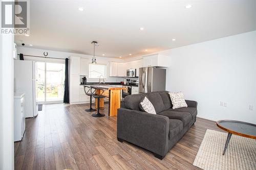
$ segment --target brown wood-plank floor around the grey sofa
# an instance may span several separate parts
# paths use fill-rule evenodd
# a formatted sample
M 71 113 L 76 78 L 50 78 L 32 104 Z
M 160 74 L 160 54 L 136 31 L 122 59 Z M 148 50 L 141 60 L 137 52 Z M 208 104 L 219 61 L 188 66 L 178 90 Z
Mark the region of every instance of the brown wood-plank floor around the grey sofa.
M 116 117 L 92 117 L 88 104 L 44 105 L 26 119 L 23 140 L 14 143 L 15 169 L 200 169 L 193 166 L 206 129 L 215 122 L 197 122 L 163 160 L 131 143 L 116 139 Z M 108 114 L 108 106 L 101 113 Z

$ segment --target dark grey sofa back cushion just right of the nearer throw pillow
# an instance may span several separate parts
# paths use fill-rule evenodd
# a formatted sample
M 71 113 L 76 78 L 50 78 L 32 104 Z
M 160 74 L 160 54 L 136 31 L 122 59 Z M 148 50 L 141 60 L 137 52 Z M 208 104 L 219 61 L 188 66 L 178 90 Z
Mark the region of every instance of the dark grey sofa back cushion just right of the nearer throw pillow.
M 146 96 L 153 104 L 157 113 L 165 110 L 163 100 L 158 92 L 147 93 Z

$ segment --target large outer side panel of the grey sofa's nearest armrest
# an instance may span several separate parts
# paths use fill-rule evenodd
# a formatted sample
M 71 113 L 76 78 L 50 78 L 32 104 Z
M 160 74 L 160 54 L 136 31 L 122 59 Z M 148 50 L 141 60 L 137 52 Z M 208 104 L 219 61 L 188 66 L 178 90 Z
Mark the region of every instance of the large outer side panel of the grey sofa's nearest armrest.
M 124 108 L 117 112 L 118 138 L 161 156 L 168 152 L 168 117 Z

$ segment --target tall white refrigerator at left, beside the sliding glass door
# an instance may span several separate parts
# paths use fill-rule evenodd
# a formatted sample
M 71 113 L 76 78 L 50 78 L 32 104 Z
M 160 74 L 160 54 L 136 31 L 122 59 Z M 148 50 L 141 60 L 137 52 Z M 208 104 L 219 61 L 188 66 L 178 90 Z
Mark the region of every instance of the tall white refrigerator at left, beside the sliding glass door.
M 14 92 L 25 93 L 25 117 L 34 117 L 38 113 L 35 81 L 35 62 L 14 60 Z

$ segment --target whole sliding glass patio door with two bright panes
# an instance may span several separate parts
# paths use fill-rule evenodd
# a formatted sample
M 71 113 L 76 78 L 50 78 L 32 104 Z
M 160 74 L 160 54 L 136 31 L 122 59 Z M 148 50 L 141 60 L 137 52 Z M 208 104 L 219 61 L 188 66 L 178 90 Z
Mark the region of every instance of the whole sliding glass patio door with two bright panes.
M 36 102 L 62 103 L 64 95 L 65 64 L 36 62 Z

